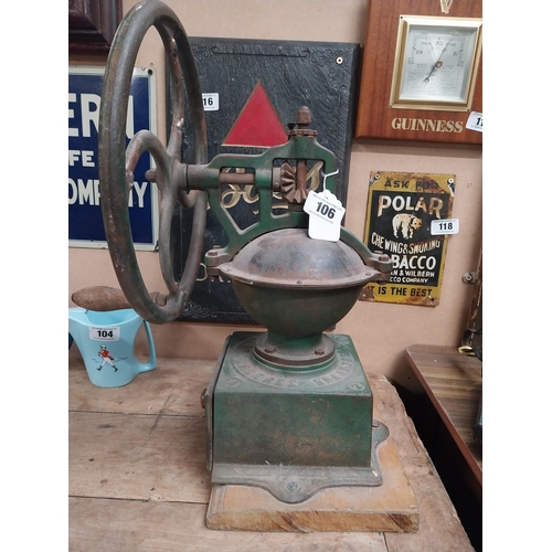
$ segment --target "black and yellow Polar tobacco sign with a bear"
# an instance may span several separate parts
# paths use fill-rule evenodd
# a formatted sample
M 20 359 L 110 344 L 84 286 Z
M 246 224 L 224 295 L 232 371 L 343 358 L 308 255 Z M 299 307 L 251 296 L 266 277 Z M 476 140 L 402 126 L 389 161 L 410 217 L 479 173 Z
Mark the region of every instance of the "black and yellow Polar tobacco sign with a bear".
M 393 262 L 385 284 L 370 283 L 361 300 L 436 307 L 440 299 L 453 213 L 454 174 L 371 172 L 364 243 Z

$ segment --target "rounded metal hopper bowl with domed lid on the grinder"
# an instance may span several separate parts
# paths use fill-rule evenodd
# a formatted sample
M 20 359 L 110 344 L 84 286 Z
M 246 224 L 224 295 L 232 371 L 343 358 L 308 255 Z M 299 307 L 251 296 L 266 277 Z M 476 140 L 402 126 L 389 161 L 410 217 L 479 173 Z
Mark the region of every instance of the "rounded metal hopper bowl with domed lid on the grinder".
M 264 234 L 219 269 L 232 280 L 251 317 L 268 328 L 269 337 L 288 339 L 317 336 L 335 326 L 372 275 L 351 247 L 310 240 L 305 229 Z M 287 355 L 278 353 L 278 359 Z

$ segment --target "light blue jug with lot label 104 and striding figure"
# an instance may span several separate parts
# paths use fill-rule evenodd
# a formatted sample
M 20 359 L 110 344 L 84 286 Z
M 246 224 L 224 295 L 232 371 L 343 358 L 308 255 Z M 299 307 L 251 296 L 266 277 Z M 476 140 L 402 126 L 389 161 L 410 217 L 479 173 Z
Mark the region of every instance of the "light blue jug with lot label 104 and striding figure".
M 138 374 L 157 365 L 156 349 L 149 322 L 132 309 L 97 312 L 81 307 L 68 309 L 68 332 L 75 340 L 88 378 L 98 388 L 119 388 Z M 144 325 L 149 360 L 138 361 L 136 337 Z

